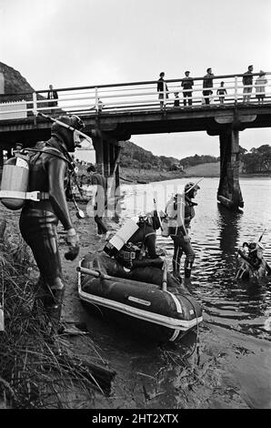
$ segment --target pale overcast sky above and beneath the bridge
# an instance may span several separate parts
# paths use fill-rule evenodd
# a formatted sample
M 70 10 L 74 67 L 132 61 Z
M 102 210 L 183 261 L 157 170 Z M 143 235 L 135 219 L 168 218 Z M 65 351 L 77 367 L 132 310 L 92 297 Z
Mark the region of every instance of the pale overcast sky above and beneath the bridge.
M 271 72 L 271 0 L 0 0 L 0 61 L 36 90 Z M 271 80 L 271 76 L 269 76 Z M 270 89 L 269 89 L 270 90 Z M 218 156 L 205 132 L 131 138 L 156 155 Z M 240 133 L 247 149 L 271 128 Z

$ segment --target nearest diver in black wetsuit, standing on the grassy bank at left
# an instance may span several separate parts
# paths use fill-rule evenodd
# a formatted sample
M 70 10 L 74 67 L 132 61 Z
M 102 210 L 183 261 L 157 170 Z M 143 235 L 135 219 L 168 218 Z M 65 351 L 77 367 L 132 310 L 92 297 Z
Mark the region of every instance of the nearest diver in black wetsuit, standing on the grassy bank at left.
M 45 141 L 44 148 L 31 154 L 29 191 L 38 190 L 41 200 L 26 201 L 19 223 L 40 271 L 35 306 L 38 301 L 42 302 L 51 332 L 58 331 L 65 292 L 56 234 L 58 221 L 66 231 L 65 240 L 69 247 L 65 259 L 74 260 L 79 252 L 78 235 L 65 199 L 65 183 L 69 168 L 72 168 L 69 152 L 74 152 L 80 142 L 75 129 L 84 127 L 76 116 L 59 117 L 59 120 L 72 128 L 54 123 L 51 138 Z

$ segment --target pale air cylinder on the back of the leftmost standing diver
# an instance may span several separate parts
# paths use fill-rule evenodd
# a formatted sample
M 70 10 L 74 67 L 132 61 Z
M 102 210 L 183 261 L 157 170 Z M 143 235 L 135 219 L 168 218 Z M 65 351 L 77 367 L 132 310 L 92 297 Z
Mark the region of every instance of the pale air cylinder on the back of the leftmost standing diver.
M 8 209 L 21 209 L 28 189 L 28 156 L 19 152 L 5 161 L 1 180 L 0 199 Z

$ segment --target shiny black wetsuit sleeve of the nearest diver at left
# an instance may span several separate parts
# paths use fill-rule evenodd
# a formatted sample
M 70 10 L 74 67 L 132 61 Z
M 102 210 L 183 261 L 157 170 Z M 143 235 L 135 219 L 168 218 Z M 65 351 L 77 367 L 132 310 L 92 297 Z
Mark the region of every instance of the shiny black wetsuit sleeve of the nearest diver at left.
M 65 173 L 67 164 L 59 158 L 50 158 L 47 164 L 49 180 L 49 198 L 55 215 L 63 224 L 65 230 L 73 228 L 69 209 L 65 199 Z

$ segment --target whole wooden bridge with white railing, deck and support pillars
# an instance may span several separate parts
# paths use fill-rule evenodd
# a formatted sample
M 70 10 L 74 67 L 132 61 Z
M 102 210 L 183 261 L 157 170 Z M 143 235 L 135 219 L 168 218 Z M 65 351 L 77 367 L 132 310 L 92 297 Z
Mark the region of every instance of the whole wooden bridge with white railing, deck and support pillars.
M 266 73 L 268 77 L 270 73 Z M 57 88 L 57 105 L 49 106 L 46 90 L 31 94 L 16 94 L 17 101 L 2 103 L 0 96 L 0 165 L 3 150 L 9 156 L 17 143 L 24 147 L 50 136 L 51 124 L 41 111 L 52 117 L 76 114 L 85 121 L 85 133 L 92 138 L 96 164 L 105 177 L 115 176 L 119 185 L 119 142 L 133 135 L 169 132 L 206 131 L 218 136 L 220 144 L 220 181 L 217 199 L 229 209 L 244 206 L 239 186 L 239 136 L 249 127 L 271 127 L 271 90 L 264 87 L 251 89 L 251 97 L 244 102 L 243 75 L 215 76 L 212 94 L 203 95 L 203 77 L 194 78 L 191 94 L 192 106 L 184 106 L 181 79 L 167 80 L 162 99 L 157 96 L 156 81 L 100 85 L 92 87 Z M 216 93 L 220 82 L 225 82 L 226 94 L 219 98 Z M 189 90 L 190 92 L 190 90 Z M 179 106 L 175 106 L 176 93 Z M 161 94 L 161 93 L 160 93 Z M 5 94 L 5 98 L 12 94 Z M 247 95 L 247 94 L 246 94 Z M 264 95 L 263 102 L 258 97 Z M 206 104 L 209 98 L 209 104 Z M 13 98 L 14 99 L 14 94 Z M 186 97 L 187 99 L 187 97 Z M 247 99 L 246 99 L 247 101 Z M 162 105 L 163 103 L 163 105 Z M 182 147 L 179 148 L 182 157 Z

